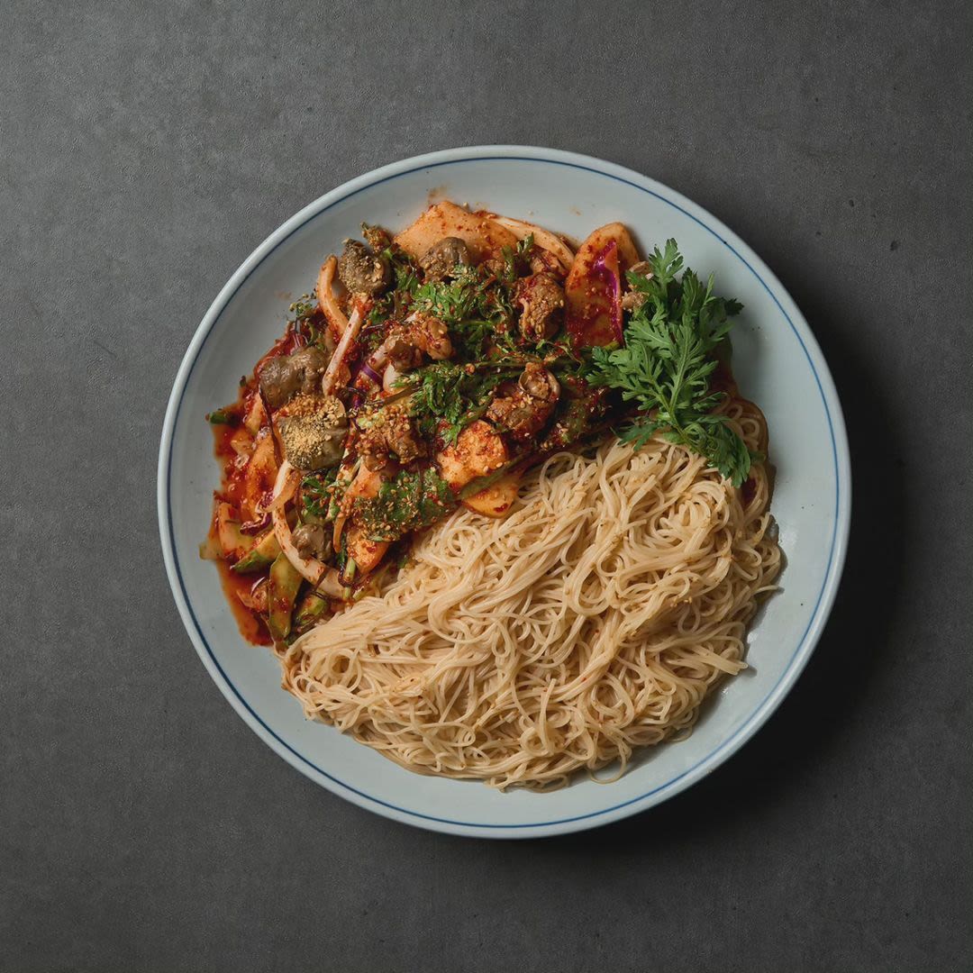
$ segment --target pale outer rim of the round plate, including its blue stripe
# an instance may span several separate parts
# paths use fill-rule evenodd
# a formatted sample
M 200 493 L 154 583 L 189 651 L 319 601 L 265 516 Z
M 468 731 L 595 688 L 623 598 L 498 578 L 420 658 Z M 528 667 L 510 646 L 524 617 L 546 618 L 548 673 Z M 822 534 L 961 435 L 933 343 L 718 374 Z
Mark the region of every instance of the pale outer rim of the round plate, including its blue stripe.
M 449 818 L 435 817 L 419 811 L 410 811 L 409 809 L 388 804 L 379 798 L 372 797 L 349 784 L 343 783 L 333 775 L 329 775 L 328 772 L 316 767 L 304 755 L 298 753 L 284 739 L 281 739 L 270 730 L 267 724 L 264 723 L 235 688 L 233 682 L 223 671 L 223 668 L 216 660 L 215 655 L 202 635 L 198 621 L 189 604 L 188 595 L 184 591 L 181 573 L 178 567 L 178 559 L 175 554 L 172 519 L 169 513 L 169 503 L 172 494 L 170 474 L 173 433 L 186 384 L 198 358 L 199 350 L 215 326 L 222 311 L 233 299 L 236 291 L 251 273 L 270 255 L 270 252 L 318 213 L 342 199 L 349 198 L 379 182 L 424 168 L 433 168 L 454 162 L 485 162 L 490 159 L 496 159 L 497 161 L 503 159 L 515 162 L 552 162 L 568 165 L 573 168 L 585 169 L 628 183 L 634 188 L 648 192 L 681 210 L 685 215 L 699 223 L 709 233 L 714 234 L 721 242 L 734 251 L 736 256 L 754 273 L 758 281 L 767 290 L 803 346 L 811 367 L 811 372 L 814 375 L 821 394 L 825 414 L 830 424 L 833 459 L 835 462 L 835 524 L 832 537 L 832 549 L 825 571 L 824 583 L 820 595 L 818 595 L 817 604 L 811 614 L 811 620 L 806 631 L 798 640 L 797 648 L 794 651 L 790 663 L 764 701 L 750 713 L 749 717 L 747 717 L 734 734 L 719 743 L 714 750 L 703 757 L 697 764 L 648 793 L 599 811 L 590 811 L 585 814 L 563 817 L 553 821 L 522 824 L 451 820 Z M 269 234 L 250 253 L 243 263 L 240 264 L 203 315 L 173 381 L 162 422 L 157 475 L 157 504 L 160 539 L 162 542 L 162 559 L 165 564 L 169 588 L 175 599 L 183 626 L 189 634 L 190 640 L 193 642 L 203 666 L 206 667 L 206 670 L 223 693 L 223 696 L 231 703 L 234 710 L 250 729 L 260 739 L 263 739 L 278 756 L 282 757 L 288 764 L 306 775 L 310 780 L 325 787 L 337 796 L 351 801 L 361 808 L 365 808 L 368 811 L 375 811 L 393 820 L 450 834 L 488 838 L 528 838 L 566 834 L 598 827 L 603 824 L 608 824 L 611 821 L 628 817 L 631 814 L 646 811 L 651 807 L 661 804 L 668 798 L 674 797 L 676 794 L 692 786 L 692 784 L 702 779 L 703 776 L 714 771 L 736 753 L 767 722 L 777 706 L 782 703 L 793 688 L 794 683 L 804 670 L 804 667 L 807 666 L 828 616 L 831 613 L 834 599 L 840 586 L 847 555 L 847 539 L 850 529 L 850 455 L 847 445 L 845 419 L 838 392 L 824 355 L 817 341 L 814 339 L 811 328 L 804 315 L 777 279 L 774 272 L 767 267 L 764 261 L 737 234 L 723 224 L 722 221 L 699 204 L 670 189 L 663 183 L 614 162 L 606 162 L 593 156 L 538 146 L 478 145 L 444 149 L 438 152 L 413 156 L 399 162 L 391 162 L 356 176 L 308 203 Z

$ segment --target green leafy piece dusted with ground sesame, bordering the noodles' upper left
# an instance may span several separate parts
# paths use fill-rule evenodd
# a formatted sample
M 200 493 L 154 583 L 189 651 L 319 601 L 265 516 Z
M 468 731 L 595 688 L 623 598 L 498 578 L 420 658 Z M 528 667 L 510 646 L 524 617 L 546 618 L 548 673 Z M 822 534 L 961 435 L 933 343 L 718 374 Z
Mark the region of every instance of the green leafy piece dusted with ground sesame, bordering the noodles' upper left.
M 378 496 L 355 500 L 360 521 L 374 541 L 397 540 L 436 523 L 455 506 L 450 485 L 431 467 L 417 473 L 400 470 L 382 484 Z

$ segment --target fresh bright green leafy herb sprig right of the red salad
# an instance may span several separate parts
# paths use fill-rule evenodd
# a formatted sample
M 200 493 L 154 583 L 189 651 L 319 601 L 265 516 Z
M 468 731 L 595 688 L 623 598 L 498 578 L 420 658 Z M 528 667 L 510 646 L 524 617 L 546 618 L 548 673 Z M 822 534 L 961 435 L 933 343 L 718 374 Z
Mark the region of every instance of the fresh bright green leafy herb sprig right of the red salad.
M 689 447 L 740 486 L 753 457 L 746 444 L 713 410 L 723 393 L 711 392 L 715 350 L 724 342 L 742 305 L 713 294 L 713 278 L 705 285 L 689 268 L 681 278 L 682 257 L 676 242 L 667 240 L 649 258 L 651 275 L 629 273 L 633 289 L 646 300 L 633 311 L 625 329 L 625 346 L 596 347 L 588 380 L 617 389 L 638 414 L 621 438 L 643 446 L 656 432 L 670 443 Z

